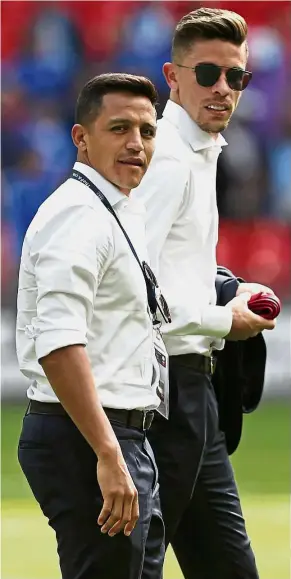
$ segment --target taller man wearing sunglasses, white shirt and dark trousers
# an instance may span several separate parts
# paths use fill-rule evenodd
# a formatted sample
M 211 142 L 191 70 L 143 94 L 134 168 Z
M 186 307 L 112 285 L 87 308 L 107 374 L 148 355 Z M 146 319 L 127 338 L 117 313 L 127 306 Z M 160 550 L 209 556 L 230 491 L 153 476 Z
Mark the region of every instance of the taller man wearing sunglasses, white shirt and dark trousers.
M 251 78 L 246 35 L 244 19 L 224 10 L 200 8 L 178 23 L 173 62 L 163 67 L 170 100 L 149 171 L 135 190 L 147 207 L 151 265 L 172 315 L 163 328 L 169 420 L 157 417 L 150 440 L 166 547 L 172 542 L 187 579 L 258 577 L 211 383 L 213 353 L 224 338 L 243 340 L 274 327 L 247 307 L 258 285 L 241 284 L 226 307 L 216 305 L 216 168 L 226 145 L 220 131 Z M 191 497 L 187 542 L 182 517 Z M 185 549 L 190 567 L 183 565 Z

